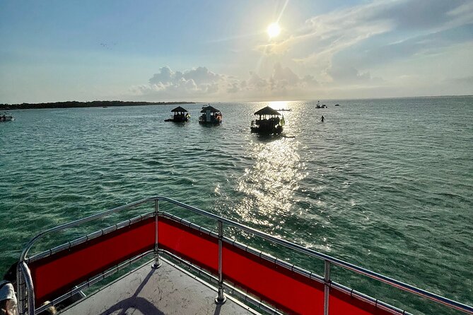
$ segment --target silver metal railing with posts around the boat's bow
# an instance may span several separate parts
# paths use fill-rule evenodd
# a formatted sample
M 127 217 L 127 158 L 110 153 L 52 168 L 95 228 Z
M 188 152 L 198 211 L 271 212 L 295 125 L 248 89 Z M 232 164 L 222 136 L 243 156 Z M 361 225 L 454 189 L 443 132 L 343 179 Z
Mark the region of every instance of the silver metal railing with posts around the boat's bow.
M 180 201 L 175 201 L 172 198 L 164 197 L 164 196 L 153 196 L 149 198 L 144 198 L 139 201 L 135 201 L 133 203 L 129 203 L 124 206 L 119 206 L 117 208 L 113 208 L 107 211 L 104 211 L 102 213 L 97 213 L 95 215 L 90 215 L 89 217 L 82 218 L 80 220 L 76 220 L 74 222 L 69 222 L 64 225 L 59 225 L 57 227 L 53 227 L 49 230 L 46 230 L 44 232 L 41 232 L 40 234 L 37 234 L 33 239 L 28 242 L 28 244 L 25 246 L 25 249 L 23 250 L 20 261 L 18 263 L 18 271 L 17 271 L 17 278 L 18 278 L 18 287 L 17 287 L 17 292 L 18 292 L 18 300 L 19 300 L 19 306 L 20 306 L 20 313 L 25 314 L 26 310 L 28 310 L 28 314 L 34 315 L 35 314 L 35 298 L 34 298 L 34 284 L 33 280 L 31 278 L 27 262 L 30 261 L 30 259 L 34 259 L 35 257 L 33 256 L 32 258 L 28 258 L 28 251 L 30 251 L 31 247 L 35 242 L 37 242 L 38 239 L 41 237 L 45 236 L 45 234 L 49 234 L 52 232 L 57 232 L 60 230 L 64 230 L 69 227 L 74 227 L 76 225 L 81 225 L 85 222 L 89 222 L 91 220 L 96 220 L 98 218 L 103 218 L 107 215 L 110 215 L 112 213 L 117 213 L 122 210 L 129 210 L 131 208 L 136 208 L 137 206 L 141 206 L 144 203 L 154 203 L 154 215 L 156 217 L 156 237 L 155 237 L 155 248 L 154 248 L 154 254 L 155 254 L 155 263 L 154 267 L 158 268 L 160 266 L 160 261 L 159 261 L 159 256 L 158 256 L 158 217 L 162 215 L 160 213 L 159 209 L 159 201 L 166 201 L 168 203 L 172 203 L 175 206 L 179 206 L 180 208 L 185 208 L 187 210 L 190 210 L 194 213 L 199 213 L 200 215 L 204 215 L 207 218 L 214 219 L 218 222 L 218 296 L 216 297 L 216 303 L 223 303 L 225 302 L 225 295 L 223 294 L 223 273 L 222 273 L 222 242 L 223 239 L 225 238 L 223 235 L 223 228 L 224 226 L 232 226 L 232 227 L 237 227 L 240 230 L 243 230 L 245 232 L 250 232 L 251 234 L 257 235 L 258 237 L 262 237 L 263 239 L 267 239 L 271 242 L 274 242 L 276 244 L 280 244 L 282 246 L 286 246 L 289 249 L 293 249 L 296 251 L 299 251 L 303 254 L 306 254 L 308 256 L 312 256 L 315 258 L 319 258 L 322 261 L 325 262 L 325 277 L 323 278 L 323 282 L 325 283 L 325 299 L 324 299 L 324 314 L 327 315 L 329 314 L 329 290 L 330 287 L 332 286 L 332 280 L 330 280 L 330 266 L 339 266 L 341 268 L 347 269 L 349 271 L 354 271 L 355 273 L 365 275 L 368 278 L 372 278 L 375 280 L 380 281 L 381 283 L 385 283 L 387 285 L 390 285 L 392 287 L 397 287 L 400 290 L 406 291 L 406 292 L 411 292 L 414 295 L 419 295 L 420 297 L 424 297 L 426 299 L 430 299 L 434 302 L 438 302 L 440 304 L 444 304 L 447 307 L 450 307 L 452 309 L 457 309 L 460 311 L 464 311 L 468 314 L 473 314 L 473 307 L 467 305 L 467 304 L 462 304 L 460 302 L 456 302 L 452 299 L 448 299 L 446 297 L 441 297 L 440 295 L 436 295 L 432 292 L 428 292 L 426 290 L 419 289 L 418 287 L 414 287 L 412 285 L 408 285 L 407 283 L 402 283 L 399 280 L 395 280 L 392 278 L 389 278 L 385 275 L 381 275 L 380 273 L 375 273 L 373 271 L 369 271 L 368 269 L 361 268 L 359 266 L 356 266 L 352 263 L 347 263 L 346 261 L 341 261 L 338 258 L 334 258 L 332 256 L 328 256 L 326 254 L 322 254 L 318 251 L 314 251 L 312 249 L 307 249 L 303 246 L 300 246 L 298 244 L 293 244 L 291 242 L 286 241 L 285 239 L 280 239 L 278 237 L 274 237 L 270 234 L 267 234 L 265 232 L 256 230 L 252 227 L 247 227 L 246 225 L 242 225 L 238 222 L 235 222 L 233 220 L 228 220 L 226 218 L 222 218 L 221 216 L 215 215 L 213 213 L 206 212 L 204 210 L 201 210 L 199 208 L 195 208 L 193 206 L 189 206 L 185 203 L 181 203 Z M 70 242 L 69 242 L 70 244 Z M 60 246 L 59 246 L 60 247 Z M 52 251 L 49 250 L 49 254 L 52 254 Z M 277 261 L 277 258 L 276 258 Z M 342 285 L 338 285 L 338 288 L 346 290 L 346 287 L 343 287 Z M 353 292 L 353 290 L 351 290 Z M 378 300 L 376 300 L 376 303 L 378 303 Z M 383 303 L 384 306 L 388 306 L 387 304 Z M 398 311 L 398 309 L 392 307 L 392 310 Z

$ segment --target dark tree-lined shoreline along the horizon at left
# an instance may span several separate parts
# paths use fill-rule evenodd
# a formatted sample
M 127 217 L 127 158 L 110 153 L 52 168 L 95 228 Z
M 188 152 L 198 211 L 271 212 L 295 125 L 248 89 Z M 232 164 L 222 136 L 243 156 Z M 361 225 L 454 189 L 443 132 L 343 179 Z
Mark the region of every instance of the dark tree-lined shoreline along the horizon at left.
M 43 108 L 75 108 L 75 107 L 119 107 L 119 106 L 145 106 L 145 105 L 182 105 L 196 104 L 196 102 L 126 102 L 120 100 L 94 100 L 92 102 L 47 102 L 47 103 L 22 103 L 0 104 L 0 110 L 15 109 L 43 109 Z

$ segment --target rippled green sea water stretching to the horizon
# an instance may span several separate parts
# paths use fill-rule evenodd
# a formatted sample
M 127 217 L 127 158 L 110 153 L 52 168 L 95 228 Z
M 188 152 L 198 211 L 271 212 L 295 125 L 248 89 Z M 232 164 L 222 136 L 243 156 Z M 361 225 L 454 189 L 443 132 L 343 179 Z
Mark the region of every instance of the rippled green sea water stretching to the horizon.
M 324 103 L 212 103 L 223 112 L 212 127 L 197 123 L 202 105 L 185 105 L 187 124 L 163 121 L 172 106 L 11 112 L 16 120 L 0 123 L 0 271 L 37 232 L 161 195 L 473 304 L 473 97 Z M 293 109 L 287 138 L 250 133 L 266 105 Z M 397 307 L 441 314 L 333 273 Z

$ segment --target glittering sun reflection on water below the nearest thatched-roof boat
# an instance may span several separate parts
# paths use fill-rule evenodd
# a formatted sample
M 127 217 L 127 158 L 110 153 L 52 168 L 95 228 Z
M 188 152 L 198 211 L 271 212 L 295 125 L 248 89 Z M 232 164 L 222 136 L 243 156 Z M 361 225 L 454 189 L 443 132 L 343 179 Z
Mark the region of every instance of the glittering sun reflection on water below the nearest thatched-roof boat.
M 305 177 L 295 139 L 258 139 L 249 146 L 254 160 L 237 181 L 236 190 L 244 194 L 235 211 L 244 222 L 277 228 L 284 225 L 291 211 L 291 198 L 298 182 Z

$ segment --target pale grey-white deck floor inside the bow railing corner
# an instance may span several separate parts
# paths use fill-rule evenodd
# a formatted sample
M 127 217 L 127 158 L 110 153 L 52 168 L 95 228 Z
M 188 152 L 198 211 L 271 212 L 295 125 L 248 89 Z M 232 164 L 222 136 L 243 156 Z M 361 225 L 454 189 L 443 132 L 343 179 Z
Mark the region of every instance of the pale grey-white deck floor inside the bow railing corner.
M 158 269 L 151 268 L 151 263 L 142 266 L 61 314 L 258 314 L 230 298 L 216 305 L 215 288 L 162 262 Z

